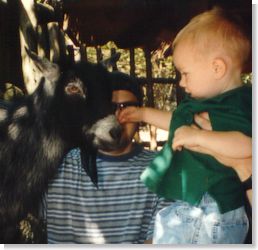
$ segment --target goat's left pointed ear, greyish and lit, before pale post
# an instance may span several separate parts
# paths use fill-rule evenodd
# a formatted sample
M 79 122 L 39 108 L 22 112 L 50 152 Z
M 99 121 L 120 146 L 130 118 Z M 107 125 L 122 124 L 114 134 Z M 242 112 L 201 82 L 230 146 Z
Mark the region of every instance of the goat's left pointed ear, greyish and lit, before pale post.
M 46 58 L 37 56 L 34 52 L 25 47 L 28 56 L 33 60 L 40 73 L 50 82 L 56 82 L 60 76 L 59 66 Z

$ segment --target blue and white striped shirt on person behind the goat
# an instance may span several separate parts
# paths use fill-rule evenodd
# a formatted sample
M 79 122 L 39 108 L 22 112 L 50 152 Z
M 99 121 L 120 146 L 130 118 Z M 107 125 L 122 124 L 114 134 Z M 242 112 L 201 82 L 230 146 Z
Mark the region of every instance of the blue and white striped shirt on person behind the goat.
M 47 194 L 48 243 L 143 243 L 154 217 L 170 202 L 148 191 L 139 176 L 155 152 L 135 145 L 122 156 L 98 155 L 98 189 L 81 166 L 80 151 L 65 157 Z

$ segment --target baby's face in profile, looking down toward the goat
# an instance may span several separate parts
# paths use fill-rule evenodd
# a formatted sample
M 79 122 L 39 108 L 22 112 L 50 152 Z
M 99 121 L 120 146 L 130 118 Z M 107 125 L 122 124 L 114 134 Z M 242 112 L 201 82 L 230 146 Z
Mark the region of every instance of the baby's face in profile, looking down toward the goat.
M 210 98 L 223 92 L 215 79 L 212 58 L 198 54 L 190 43 L 180 42 L 175 47 L 173 61 L 181 74 L 179 85 L 193 98 Z

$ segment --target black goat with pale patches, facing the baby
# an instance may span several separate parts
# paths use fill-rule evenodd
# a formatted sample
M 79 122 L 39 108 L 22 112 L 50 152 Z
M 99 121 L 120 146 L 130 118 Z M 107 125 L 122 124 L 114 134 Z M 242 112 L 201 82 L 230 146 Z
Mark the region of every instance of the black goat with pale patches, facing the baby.
M 80 147 L 85 164 L 92 163 L 96 123 L 107 123 L 103 145 L 115 145 L 121 130 L 111 114 L 111 73 L 102 65 L 58 66 L 29 54 L 43 75 L 37 89 L 0 104 L 0 243 L 28 243 L 20 222 L 37 214 L 49 179 L 71 148 Z M 94 163 L 86 171 L 96 181 Z

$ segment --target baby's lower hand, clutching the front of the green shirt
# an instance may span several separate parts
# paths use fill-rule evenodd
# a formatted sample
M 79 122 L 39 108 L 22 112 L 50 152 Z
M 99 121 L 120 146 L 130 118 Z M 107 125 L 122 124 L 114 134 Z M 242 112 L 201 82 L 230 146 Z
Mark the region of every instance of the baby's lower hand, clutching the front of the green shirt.
M 179 127 L 174 134 L 172 149 L 181 151 L 183 147 L 187 149 L 198 147 L 199 133 L 200 129 L 195 125 Z

